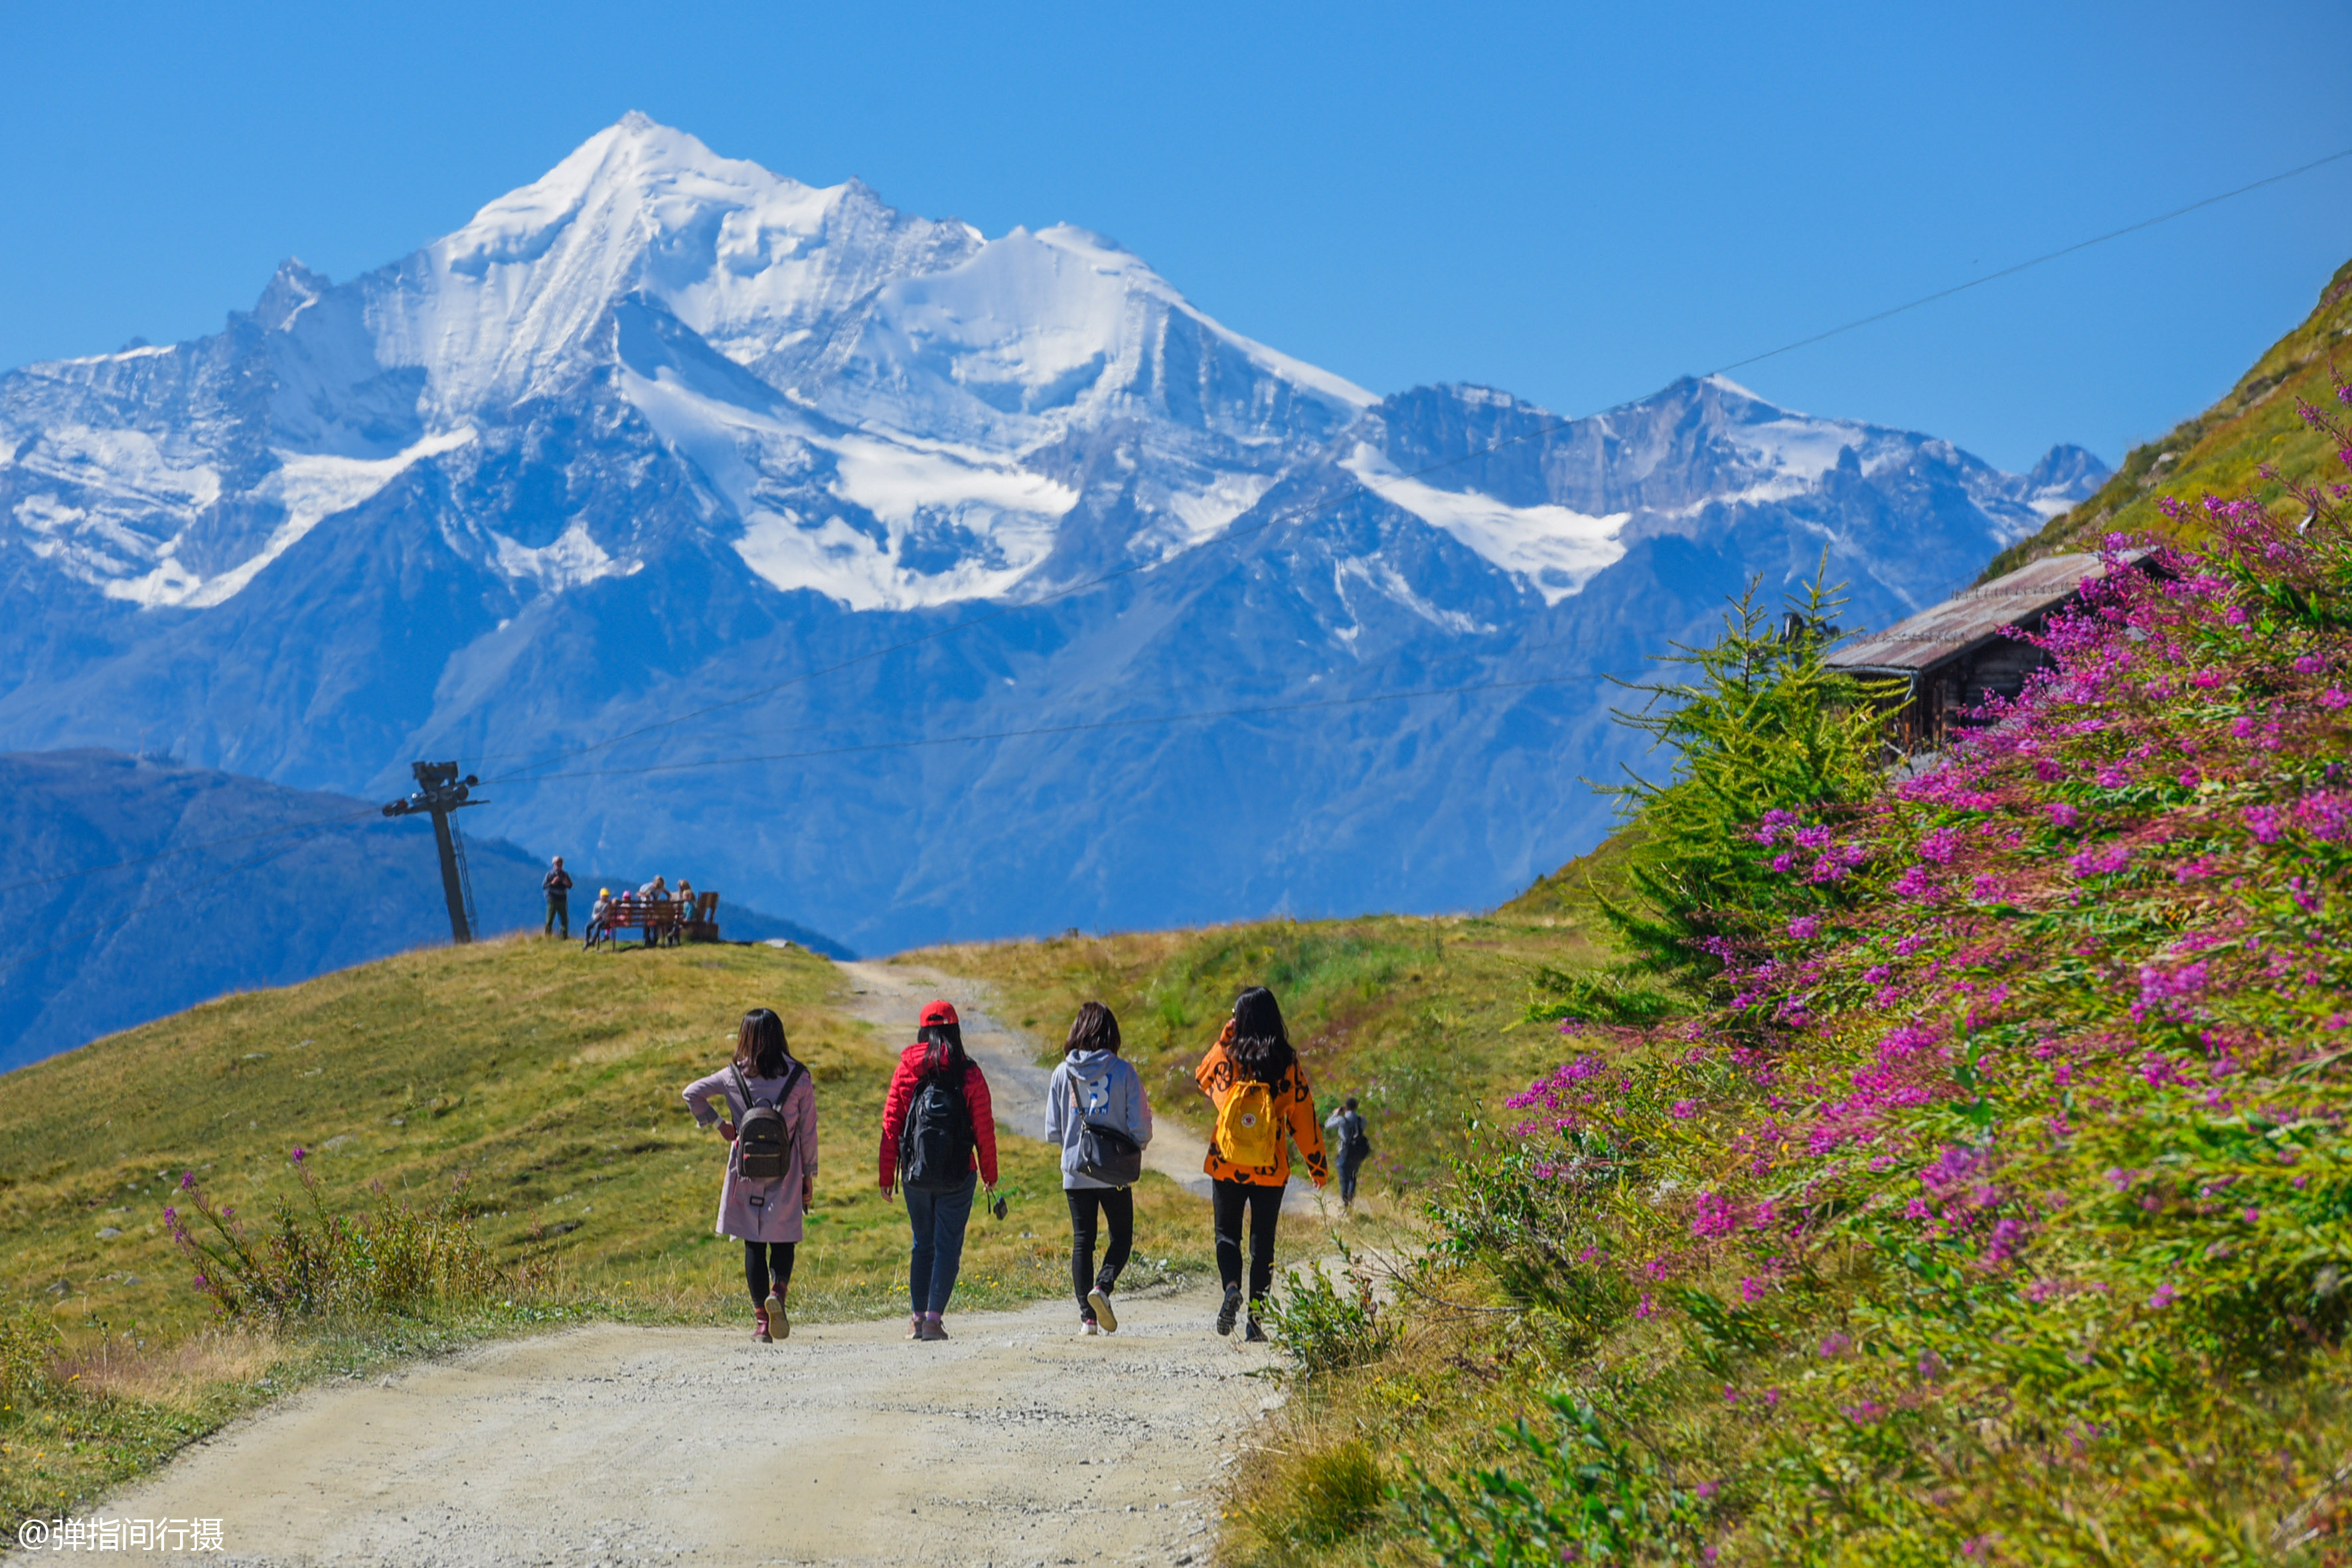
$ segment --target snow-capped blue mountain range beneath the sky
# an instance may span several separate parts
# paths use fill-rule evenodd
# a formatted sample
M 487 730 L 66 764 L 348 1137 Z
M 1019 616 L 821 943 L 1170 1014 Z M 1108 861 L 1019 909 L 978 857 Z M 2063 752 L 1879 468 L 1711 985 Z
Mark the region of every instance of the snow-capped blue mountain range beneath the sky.
M 1604 827 L 1599 672 L 1825 552 L 1886 623 L 2103 473 L 1729 381 L 1374 397 L 1101 235 L 630 115 L 376 273 L 0 376 L 0 748 L 456 755 L 485 830 L 868 950 L 1479 905 Z

